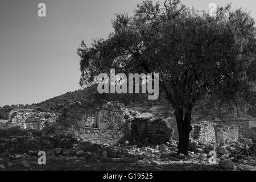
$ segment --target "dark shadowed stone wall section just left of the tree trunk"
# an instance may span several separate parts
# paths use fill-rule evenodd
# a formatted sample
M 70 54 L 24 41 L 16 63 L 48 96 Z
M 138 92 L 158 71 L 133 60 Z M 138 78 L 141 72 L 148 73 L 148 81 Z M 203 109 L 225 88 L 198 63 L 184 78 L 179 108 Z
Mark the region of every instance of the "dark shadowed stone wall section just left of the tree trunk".
M 139 146 L 170 142 L 174 130 L 164 119 L 137 117 L 131 122 L 130 141 Z

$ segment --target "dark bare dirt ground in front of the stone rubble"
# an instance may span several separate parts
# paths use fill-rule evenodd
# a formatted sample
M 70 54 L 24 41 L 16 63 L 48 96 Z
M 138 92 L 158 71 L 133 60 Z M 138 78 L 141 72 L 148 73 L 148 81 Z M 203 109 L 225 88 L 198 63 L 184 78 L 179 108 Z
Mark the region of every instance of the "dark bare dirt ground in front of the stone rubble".
M 46 165 L 39 165 L 37 156 L 25 156 L 0 159 L 0 163 L 5 164 L 5 168 L 0 168 L 0 171 L 220 171 L 217 164 L 210 165 L 196 160 L 161 160 L 154 165 L 139 163 L 133 159 L 127 159 L 127 162 L 92 162 L 79 156 L 47 156 Z M 247 167 L 256 171 L 256 164 Z

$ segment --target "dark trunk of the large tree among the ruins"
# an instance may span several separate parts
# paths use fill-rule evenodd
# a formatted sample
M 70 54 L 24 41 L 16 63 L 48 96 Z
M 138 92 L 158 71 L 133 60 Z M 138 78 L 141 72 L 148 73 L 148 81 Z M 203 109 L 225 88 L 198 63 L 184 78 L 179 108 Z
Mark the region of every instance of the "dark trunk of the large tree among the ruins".
M 189 133 L 192 130 L 191 126 L 191 110 L 187 111 L 183 119 L 183 111 L 175 112 L 177 129 L 179 132 L 178 154 L 188 155 Z

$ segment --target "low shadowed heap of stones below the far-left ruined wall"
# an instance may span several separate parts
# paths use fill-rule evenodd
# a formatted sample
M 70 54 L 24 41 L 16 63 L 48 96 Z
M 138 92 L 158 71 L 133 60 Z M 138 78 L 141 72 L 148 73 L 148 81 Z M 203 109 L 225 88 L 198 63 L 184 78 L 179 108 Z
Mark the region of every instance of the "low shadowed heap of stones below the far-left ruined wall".
M 20 127 L 1 129 L 1 152 L 28 152 L 49 148 L 70 148 L 77 143 L 75 134 L 56 126 L 44 127 L 42 131 L 23 130 Z

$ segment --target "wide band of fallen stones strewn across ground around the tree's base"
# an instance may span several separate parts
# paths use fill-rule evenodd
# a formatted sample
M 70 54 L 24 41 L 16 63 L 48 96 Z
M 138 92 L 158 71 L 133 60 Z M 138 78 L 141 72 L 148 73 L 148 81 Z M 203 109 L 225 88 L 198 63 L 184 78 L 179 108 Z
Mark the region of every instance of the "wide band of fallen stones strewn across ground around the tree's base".
M 89 161 L 138 163 L 161 165 L 172 162 L 200 162 L 209 163 L 210 151 L 217 152 L 217 164 L 220 169 L 246 170 L 246 166 L 237 165 L 236 158 L 246 146 L 241 143 L 219 145 L 216 142 L 203 143 L 190 140 L 188 156 L 177 155 L 179 142 L 170 140 L 163 144 L 138 147 L 126 141 L 123 144 L 110 146 L 109 144 L 93 144 L 78 138 L 73 133 L 64 131 L 61 126 L 49 125 L 42 131 L 30 133 L 24 130 L 1 131 L 1 158 L 18 158 L 23 155 L 37 156 L 39 151 L 46 151 L 47 156 L 79 156 Z

